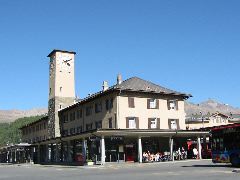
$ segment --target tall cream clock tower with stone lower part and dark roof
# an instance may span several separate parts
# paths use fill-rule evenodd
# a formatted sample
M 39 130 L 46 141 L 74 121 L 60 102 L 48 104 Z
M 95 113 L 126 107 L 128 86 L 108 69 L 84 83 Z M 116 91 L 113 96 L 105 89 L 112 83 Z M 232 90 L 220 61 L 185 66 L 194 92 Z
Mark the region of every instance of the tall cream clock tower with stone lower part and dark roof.
M 53 50 L 49 62 L 48 138 L 60 137 L 58 111 L 75 101 L 75 52 Z

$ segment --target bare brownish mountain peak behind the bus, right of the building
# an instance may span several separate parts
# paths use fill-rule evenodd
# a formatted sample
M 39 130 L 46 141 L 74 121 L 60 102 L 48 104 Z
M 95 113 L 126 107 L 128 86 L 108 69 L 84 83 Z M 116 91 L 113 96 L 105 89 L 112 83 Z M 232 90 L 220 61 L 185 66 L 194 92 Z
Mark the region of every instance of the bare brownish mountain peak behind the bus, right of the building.
M 202 112 L 203 115 L 215 112 L 221 112 L 223 114 L 240 114 L 240 108 L 235 108 L 228 104 L 223 104 L 214 99 L 208 99 L 207 101 L 201 102 L 200 104 L 194 104 L 191 102 L 185 102 L 185 112 L 187 116 L 191 116 L 192 114 L 200 114 Z

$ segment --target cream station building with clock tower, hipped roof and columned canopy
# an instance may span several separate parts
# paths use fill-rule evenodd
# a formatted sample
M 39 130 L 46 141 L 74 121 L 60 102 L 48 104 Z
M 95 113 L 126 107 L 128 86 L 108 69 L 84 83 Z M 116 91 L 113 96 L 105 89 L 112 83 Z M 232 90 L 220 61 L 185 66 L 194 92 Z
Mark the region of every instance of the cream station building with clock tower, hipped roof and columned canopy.
M 184 101 L 190 94 L 118 75 L 115 85 L 104 81 L 101 91 L 77 99 L 75 54 L 53 50 L 48 55 L 48 116 L 21 128 L 23 143 L 31 144 L 32 161 L 142 162 L 145 151 L 173 157 L 189 138 L 196 140 L 201 158 L 201 141 L 209 132 L 186 130 Z

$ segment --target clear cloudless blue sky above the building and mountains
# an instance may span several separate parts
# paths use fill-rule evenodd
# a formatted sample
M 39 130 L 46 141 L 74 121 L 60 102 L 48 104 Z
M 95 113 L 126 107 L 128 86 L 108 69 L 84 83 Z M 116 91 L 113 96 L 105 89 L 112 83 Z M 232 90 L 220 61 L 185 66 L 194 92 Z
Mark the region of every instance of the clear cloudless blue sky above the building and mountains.
M 76 93 L 121 73 L 240 107 L 238 0 L 0 0 L 0 109 L 47 107 L 48 58 L 76 51 Z

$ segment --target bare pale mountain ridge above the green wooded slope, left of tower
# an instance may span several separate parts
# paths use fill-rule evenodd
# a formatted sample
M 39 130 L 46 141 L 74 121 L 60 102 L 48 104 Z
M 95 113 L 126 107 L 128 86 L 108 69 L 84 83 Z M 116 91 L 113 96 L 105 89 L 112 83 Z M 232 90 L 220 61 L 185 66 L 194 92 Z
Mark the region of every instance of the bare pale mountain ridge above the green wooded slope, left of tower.
M 18 118 L 38 116 L 47 113 L 47 108 L 33 108 L 29 110 L 0 110 L 0 123 L 10 123 Z

